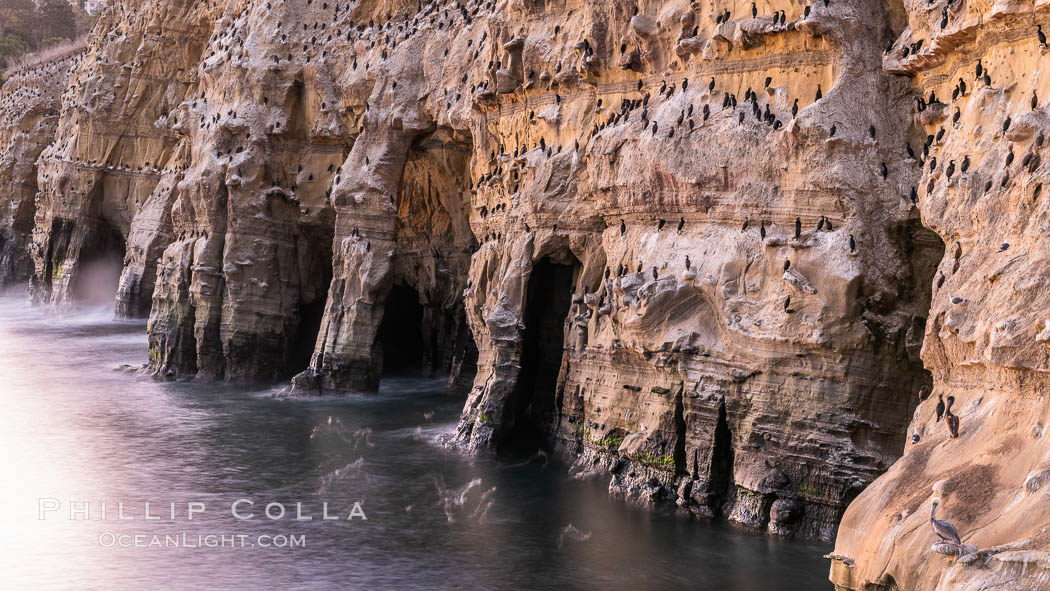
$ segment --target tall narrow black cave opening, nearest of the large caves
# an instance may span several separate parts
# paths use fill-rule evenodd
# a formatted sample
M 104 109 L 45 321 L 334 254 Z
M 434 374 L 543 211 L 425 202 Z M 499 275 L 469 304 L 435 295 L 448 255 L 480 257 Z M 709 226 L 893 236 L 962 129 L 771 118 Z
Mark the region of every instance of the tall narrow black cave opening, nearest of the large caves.
M 565 319 L 572 303 L 575 267 L 544 258 L 532 268 L 525 300 L 525 335 L 521 372 L 506 421 L 506 447 L 547 446 L 555 424 L 558 379 L 565 356 Z

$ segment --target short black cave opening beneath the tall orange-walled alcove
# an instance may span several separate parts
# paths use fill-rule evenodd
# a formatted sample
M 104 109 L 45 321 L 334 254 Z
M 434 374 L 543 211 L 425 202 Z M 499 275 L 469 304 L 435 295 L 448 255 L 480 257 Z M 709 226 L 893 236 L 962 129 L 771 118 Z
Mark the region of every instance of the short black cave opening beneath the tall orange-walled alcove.
M 423 304 L 416 290 L 402 283 L 391 288 L 376 334 L 382 352 L 382 375 L 425 375 L 423 317 Z

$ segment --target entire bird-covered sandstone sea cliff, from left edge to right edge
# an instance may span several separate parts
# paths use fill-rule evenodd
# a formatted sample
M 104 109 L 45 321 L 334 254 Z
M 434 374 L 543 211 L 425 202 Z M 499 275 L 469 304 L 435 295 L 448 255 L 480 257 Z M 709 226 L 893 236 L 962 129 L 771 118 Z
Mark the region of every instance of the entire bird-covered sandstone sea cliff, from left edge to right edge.
M 421 366 L 841 589 L 1041 588 L 1047 4 L 114 1 L 7 75 L 0 280 L 160 379 Z

